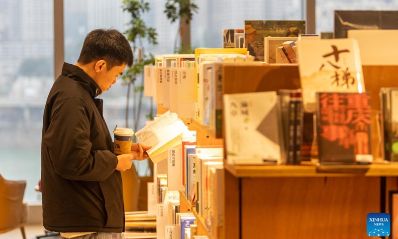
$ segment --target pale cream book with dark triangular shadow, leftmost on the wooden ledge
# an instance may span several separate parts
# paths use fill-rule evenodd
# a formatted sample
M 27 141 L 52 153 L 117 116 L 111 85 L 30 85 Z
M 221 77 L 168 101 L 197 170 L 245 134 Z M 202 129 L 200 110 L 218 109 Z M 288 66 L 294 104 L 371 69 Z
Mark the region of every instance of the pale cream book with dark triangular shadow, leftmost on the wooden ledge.
M 281 163 L 281 125 L 276 92 L 224 95 L 229 164 Z

